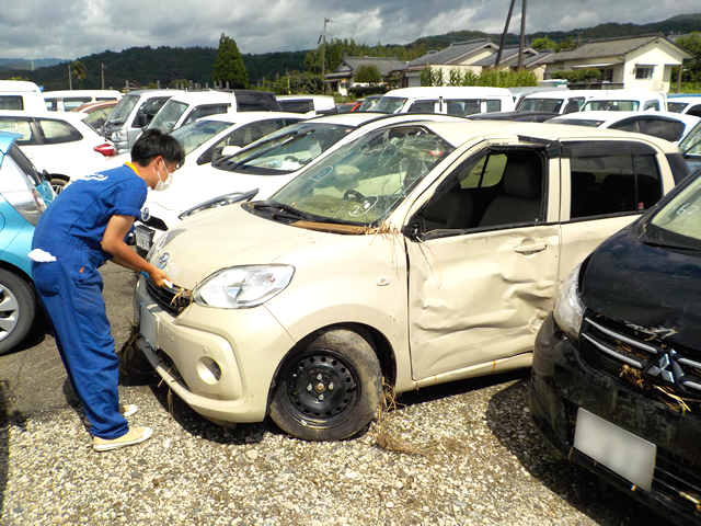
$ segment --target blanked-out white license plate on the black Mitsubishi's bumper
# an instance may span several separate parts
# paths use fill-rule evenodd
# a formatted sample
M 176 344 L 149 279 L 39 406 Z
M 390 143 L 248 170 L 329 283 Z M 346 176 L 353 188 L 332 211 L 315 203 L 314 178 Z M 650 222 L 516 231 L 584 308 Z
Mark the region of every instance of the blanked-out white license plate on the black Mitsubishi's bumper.
M 642 490 L 650 491 L 657 446 L 579 408 L 574 447 Z

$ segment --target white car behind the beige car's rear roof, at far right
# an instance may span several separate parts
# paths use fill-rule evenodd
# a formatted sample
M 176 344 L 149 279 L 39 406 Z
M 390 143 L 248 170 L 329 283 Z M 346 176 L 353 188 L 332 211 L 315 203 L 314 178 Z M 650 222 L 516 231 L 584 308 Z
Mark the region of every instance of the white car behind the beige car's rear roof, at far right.
M 701 122 L 701 118 L 670 112 L 599 111 L 571 113 L 547 122 L 634 132 L 659 137 L 669 142 L 678 142 Z

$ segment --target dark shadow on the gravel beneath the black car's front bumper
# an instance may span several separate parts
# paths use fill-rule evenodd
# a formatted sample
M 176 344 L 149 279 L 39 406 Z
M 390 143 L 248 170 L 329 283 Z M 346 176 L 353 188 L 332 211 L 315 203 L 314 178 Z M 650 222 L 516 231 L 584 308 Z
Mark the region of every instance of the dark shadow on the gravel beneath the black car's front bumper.
M 529 397 L 528 378 L 512 384 L 491 398 L 486 419 L 494 436 L 530 474 L 598 524 L 664 524 L 662 517 L 600 478 L 552 456 L 527 411 Z

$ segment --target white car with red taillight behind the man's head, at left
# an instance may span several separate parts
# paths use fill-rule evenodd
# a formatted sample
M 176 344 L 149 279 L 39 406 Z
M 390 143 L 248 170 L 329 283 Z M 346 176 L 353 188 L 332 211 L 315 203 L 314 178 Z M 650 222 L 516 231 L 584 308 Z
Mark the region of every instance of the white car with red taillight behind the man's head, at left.
M 18 146 L 34 165 L 46 170 L 58 194 L 71 180 L 104 169 L 114 145 L 82 122 L 82 115 L 58 112 L 0 111 L 0 129 L 22 135 Z

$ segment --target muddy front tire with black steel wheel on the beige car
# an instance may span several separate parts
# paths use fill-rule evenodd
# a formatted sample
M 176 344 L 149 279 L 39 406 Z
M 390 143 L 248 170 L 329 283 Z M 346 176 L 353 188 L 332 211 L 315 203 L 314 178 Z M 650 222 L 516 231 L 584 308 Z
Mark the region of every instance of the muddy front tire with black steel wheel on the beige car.
M 358 333 L 331 329 L 289 356 L 277 375 L 271 418 L 304 441 L 341 441 L 361 432 L 377 414 L 380 363 Z

